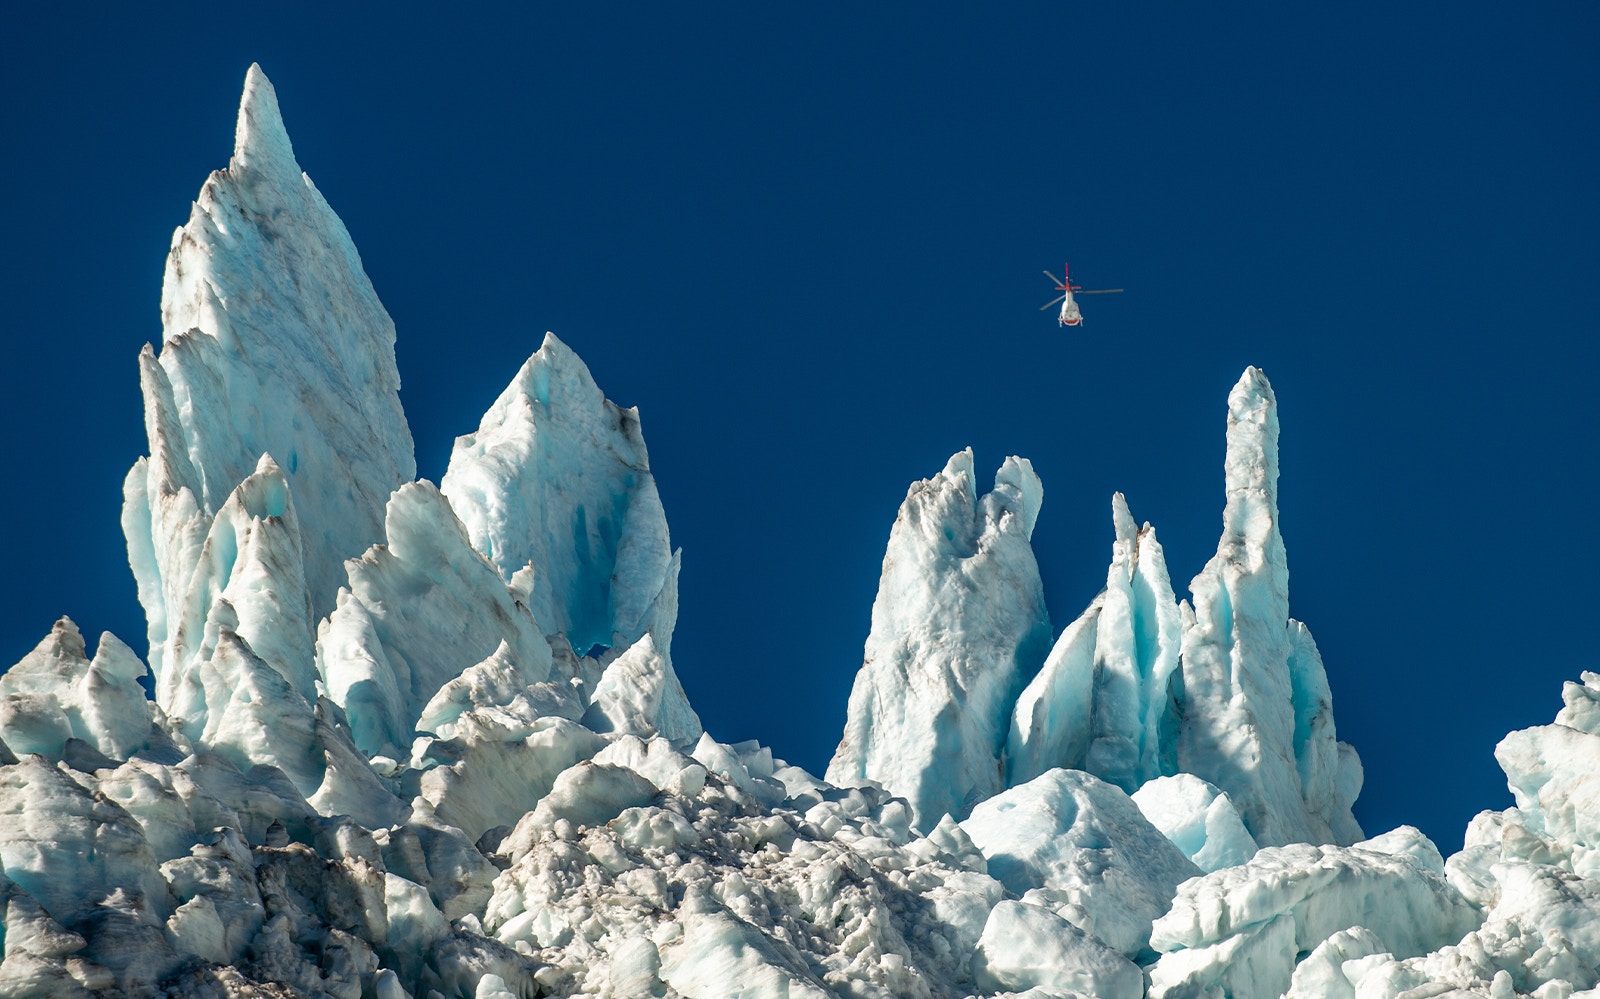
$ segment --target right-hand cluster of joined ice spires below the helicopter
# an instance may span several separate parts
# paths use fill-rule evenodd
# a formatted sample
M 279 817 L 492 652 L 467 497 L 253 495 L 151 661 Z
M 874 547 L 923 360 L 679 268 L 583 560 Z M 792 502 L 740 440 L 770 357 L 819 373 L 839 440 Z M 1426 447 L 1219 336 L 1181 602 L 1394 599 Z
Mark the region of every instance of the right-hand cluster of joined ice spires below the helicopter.
M 965 527 L 976 509 L 968 453 L 914 485 L 829 780 L 875 780 L 931 826 L 1058 767 L 1128 794 L 1186 773 L 1144 800 L 1173 828 L 1232 831 L 1210 847 L 1200 836 L 1195 857 L 1360 841 L 1350 815 L 1360 759 L 1334 735 L 1310 631 L 1288 616 L 1277 402 L 1256 368 L 1229 394 L 1224 466 L 1222 540 L 1192 583 L 1194 608 L 1173 594 L 1155 530 L 1136 527 L 1118 493 L 1106 589 L 1037 674 L 1037 653 L 1024 650 L 1048 624 L 1029 546 L 1032 467 L 1006 461 L 976 528 Z M 998 735 L 997 706 L 1006 716 Z M 1216 815 L 1173 812 L 1190 799 Z

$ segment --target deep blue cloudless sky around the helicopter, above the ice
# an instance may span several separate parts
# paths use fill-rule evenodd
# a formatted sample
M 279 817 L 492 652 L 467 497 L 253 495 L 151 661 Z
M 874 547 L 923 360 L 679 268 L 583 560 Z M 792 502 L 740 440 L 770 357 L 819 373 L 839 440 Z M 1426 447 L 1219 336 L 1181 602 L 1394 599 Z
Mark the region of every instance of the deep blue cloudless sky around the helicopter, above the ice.
M 1114 490 L 1182 594 L 1254 363 L 1357 816 L 1453 850 L 1509 804 L 1494 743 L 1600 669 L 1600 6 L 571 6 L 6 16 L 0 660 L 61 613 L 144 645 L 134 359 L 259 61 L 422 475 L 546 330 L 640 408 L 718 738 L 826 765 L 894 511 L 966 445 L 1045 480 L 1058 631 Z M 1128 288 L 1074 331 L 1064 258 Z

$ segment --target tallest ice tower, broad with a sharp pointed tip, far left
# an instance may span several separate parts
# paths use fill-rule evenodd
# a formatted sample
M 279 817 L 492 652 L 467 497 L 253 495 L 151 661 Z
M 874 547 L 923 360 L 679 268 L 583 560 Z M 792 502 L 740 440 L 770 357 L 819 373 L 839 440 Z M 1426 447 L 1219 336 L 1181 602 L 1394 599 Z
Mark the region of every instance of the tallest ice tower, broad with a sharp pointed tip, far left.
M 160 355 L 139 355 L 150 456 L 122 516 L 158 700 L 194 708 L 182 674 L 219 624 L 315 700 L 312 623 L 416 459 L 394 323 L 258 66 L 234 157 L 173 235 L 162 322 Z

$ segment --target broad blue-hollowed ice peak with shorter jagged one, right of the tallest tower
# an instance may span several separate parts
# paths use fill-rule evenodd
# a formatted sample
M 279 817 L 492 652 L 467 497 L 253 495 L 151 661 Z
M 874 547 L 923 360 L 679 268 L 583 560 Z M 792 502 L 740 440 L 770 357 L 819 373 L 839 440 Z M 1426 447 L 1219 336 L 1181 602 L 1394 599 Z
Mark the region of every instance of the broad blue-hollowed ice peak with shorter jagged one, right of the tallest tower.
M 638 411 L 555 335 L 456 439 L 440 487 L 397 490 L 384 543 L 346 568 L 317 668 L 370 757 L 438 733 L 446 685 L 486 709 L 512 700 L 490 688 L 579 680 L 598 732 L 701 735 L 670 661 L 678 556 Z

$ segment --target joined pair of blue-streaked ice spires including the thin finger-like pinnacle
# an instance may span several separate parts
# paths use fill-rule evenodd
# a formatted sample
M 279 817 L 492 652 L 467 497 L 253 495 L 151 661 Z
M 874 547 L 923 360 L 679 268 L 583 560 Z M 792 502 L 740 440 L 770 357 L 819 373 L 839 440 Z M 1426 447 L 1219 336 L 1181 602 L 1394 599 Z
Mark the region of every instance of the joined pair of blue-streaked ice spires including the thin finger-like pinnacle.
M 1362 765 L 1334 735 L 1310 631 L 1288 613 L 1277 400 L 1258 368 L 1229 394 L 1224 479 L 1222 540 L 1190 583 L 1192 608 L 1173 594 L 1155 530 L 1134 528 L 1126 501 L 1114 496 L 1106 589 L 1018 698 L 1008 781 L 1070 767 L 1131 794 L 1186 773 L 1210 786 L 1189 792 L 1205 800 L 1222 792 L 1222 812 L 1237 808 L 1250 836 L 1234 839 L 1253 837 L 1250 850 L 1357 842 L 1350 805 Z

